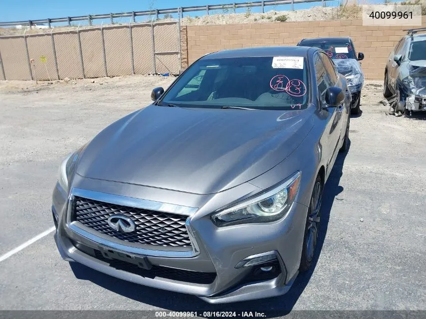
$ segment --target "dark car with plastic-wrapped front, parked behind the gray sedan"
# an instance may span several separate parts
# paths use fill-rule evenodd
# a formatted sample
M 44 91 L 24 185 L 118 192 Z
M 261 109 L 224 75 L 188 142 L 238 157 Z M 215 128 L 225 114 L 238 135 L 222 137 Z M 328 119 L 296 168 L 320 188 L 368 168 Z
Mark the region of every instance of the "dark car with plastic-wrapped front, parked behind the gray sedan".
M 297 45 L 315 46 L 323 49 L 333 60 L 337 71 L 346 78 L 352 102 L 351 113 L 360 112 L 361 89 L 364 84 L 364 74 L 358 61 L 364 54 L 356 54 L 355 46 L 349 37 L 309 38 L 301 40 Z

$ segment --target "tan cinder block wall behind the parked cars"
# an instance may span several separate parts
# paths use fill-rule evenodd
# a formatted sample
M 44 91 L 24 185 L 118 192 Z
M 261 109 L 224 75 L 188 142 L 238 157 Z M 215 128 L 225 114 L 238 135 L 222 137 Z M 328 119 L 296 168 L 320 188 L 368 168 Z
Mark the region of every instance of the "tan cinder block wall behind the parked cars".
M 422 27 L 426 27 L 426 16 Z M 188 61 L 223 49 L 296 45 L 303 38 L 350 36 L 356 51 L 365 55 L 361 61 L 365 77 L 382 80 L 389 53 L 406 34 L 403 29 L 408 27 L 362 26 L 362 20 L 188 26 Z

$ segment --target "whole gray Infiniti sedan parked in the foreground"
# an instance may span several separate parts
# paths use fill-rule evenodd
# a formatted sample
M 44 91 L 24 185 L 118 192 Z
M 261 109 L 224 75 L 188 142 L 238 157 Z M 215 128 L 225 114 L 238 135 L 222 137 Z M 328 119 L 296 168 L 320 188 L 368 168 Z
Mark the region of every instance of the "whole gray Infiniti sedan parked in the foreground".
M 226 50 L 70 154 L 66 261 L 210 303 L 284 294 L 310 268 L 351 96 L 315 47 Z

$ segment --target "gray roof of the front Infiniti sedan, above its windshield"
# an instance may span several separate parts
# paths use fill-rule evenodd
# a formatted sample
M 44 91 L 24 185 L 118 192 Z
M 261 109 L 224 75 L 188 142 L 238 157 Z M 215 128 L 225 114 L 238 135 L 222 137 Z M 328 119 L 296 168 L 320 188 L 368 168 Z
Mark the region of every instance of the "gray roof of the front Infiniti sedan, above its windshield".
M 308 51 L 312 49 L 306 46 L 265 46 L 242 49 L 229 49 L 213 52 L 202 59 L 229 58 L 229 57 L 260 57 L 260 56 L 303 56 L 308 57 Z

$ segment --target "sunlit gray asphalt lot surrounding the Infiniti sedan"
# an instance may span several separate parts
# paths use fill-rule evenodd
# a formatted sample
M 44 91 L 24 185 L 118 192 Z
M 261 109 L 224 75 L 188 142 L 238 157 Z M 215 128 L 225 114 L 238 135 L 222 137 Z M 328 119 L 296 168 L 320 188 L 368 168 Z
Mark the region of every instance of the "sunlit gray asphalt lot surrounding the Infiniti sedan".
M 315 267 L 284 296 L 209 305 L 60 259 L 51 193 L 65 155 L 173 79 L 0 83 L 0 309 L 426 310 L 426 114 L 385 115 L 370 81 L 323 199 Z M 361 221 L 362 220 L 362 221 Z

